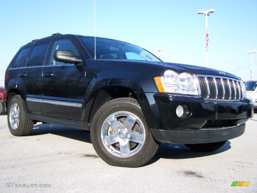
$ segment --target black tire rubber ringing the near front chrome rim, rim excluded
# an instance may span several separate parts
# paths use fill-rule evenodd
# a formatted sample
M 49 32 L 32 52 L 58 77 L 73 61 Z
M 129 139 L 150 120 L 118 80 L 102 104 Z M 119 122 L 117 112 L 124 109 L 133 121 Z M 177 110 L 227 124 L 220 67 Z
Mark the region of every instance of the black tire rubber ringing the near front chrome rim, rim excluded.
M 108 116 L 118 111 L 127 111 L 127 112 L 133 113 L 142 121 L 144 125 L 144 129 L 145 129 L 144 144 L 142 148 L 135 155 L 130 157 L 117 157 L 109 153 L 102 142 L 101 130 L 102 130 L 104 121 Z M 93 138 L 92 143 L 95 150 L 99 154 L 99 156 L 102 157 L 102 159 L 105 162 L 111 165 L 120 165 L 120 166 L 130 165 L 131 166 L 131 165 L 138 165 L 139 163 L 142 163 L 143 157 L 151 156 L 152 151 L 149 151 L 149 148 L 153 146 L 152 144 L 154 142 L 154 139 L 149 130 L 147 122 L 145 121 L 145 118 L 140 106 L 131 102 L 126 102 L 124 100 L 120 102 L 117 101 L 114 103 L 109 103 L 109 104 L 106 103 L 106 105 L 104 105 L 104 108 L 101 107 L 97 111 L 96 115 L 94 116 L 94 119 L 92 122 L 95 124 L 93 124 L 91 127 L 91 134 L 92 134 L 91 138 Z

